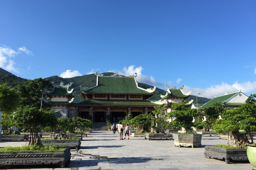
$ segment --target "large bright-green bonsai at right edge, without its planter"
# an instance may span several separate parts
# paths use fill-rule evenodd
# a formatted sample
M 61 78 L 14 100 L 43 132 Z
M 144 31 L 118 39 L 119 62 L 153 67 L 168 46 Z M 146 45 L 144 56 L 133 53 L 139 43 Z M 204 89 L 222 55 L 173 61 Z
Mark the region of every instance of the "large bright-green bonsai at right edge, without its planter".
M 252 132 L 256 131 L 256 94 L 250 95 L 249 98 L 240 107 L 230 110 L 225 109 L 221 115 L 220 120 L 216 121 L 214 126 L 217 133 L 229 131 L 232 135 L 233 146 L 247 146 L 253 144 Z M 245 133 L 240 133 L 244 130 Z M 249 134 L 251 142 L 249 142 L 247 135 Z

